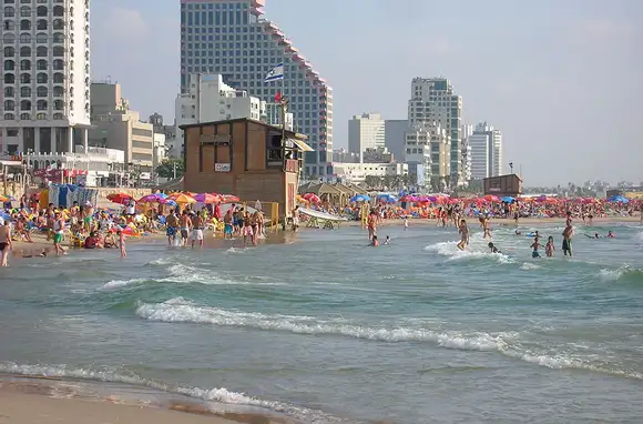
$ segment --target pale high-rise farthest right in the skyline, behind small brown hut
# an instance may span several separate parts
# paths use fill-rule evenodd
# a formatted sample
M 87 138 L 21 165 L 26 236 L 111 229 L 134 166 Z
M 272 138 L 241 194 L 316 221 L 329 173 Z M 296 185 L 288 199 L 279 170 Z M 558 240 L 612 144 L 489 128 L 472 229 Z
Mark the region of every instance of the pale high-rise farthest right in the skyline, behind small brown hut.
M 481 180 L 502 175 L 502 133 L 487 122 L 480 122 L 469 135 L 471 178 Z

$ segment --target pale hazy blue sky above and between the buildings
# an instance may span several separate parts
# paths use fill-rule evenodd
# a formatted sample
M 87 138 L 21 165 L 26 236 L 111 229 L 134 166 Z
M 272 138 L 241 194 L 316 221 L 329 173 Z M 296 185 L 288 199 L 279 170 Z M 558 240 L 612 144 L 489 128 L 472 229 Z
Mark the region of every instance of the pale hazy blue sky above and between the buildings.
M 643 182 L 643 1 L 266 0 L 348 120 L 406 119 L 414 77 L 446 77 L 463 121 L 502 131 L 525 185 Z M 120 82 L 142 117 L 174 119 L 178 0 L 92 0 L 92 79 Z M 251 93 L 252 94 L 252 93 Z M 508 165 L 506 165 L 508 171 Z

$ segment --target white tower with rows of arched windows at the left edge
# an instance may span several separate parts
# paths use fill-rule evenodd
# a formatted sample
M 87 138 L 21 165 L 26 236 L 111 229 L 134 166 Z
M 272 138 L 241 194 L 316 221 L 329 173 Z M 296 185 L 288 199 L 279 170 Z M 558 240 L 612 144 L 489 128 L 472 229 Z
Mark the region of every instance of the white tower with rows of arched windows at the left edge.
M 4 0 L 2 8 L 0 153 L 86 148 L 89 0 Z

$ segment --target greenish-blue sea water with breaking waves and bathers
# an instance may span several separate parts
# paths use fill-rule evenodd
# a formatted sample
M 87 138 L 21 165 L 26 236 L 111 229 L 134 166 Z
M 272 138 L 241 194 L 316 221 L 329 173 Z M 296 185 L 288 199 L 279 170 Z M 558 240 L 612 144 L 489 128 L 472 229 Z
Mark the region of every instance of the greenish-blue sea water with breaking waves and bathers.
M 643 422 L 643 229 L 574 258 L 453 228 L 131 244 L 0 271 L 0 372 L 115 382 L 304 423 Z M 616 233 L 591 240 L 582 233 Z M 273 238 L 274 240 L 275 238 Z M 543 239 L 543 244 L 547 239 Z M 544 252 L 542 252 L 544 253 Z

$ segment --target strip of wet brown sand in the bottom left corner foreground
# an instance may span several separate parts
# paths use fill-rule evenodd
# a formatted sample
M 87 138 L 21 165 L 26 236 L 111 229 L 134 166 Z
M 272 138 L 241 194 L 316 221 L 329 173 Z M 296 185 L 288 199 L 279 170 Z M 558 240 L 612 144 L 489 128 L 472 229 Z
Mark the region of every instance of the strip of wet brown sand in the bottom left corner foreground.
M 215 408 L 206 401 L 165 392 L 160 393 L 164 400 L 143 401 L 121 396 L 116 390 L 105 390 L 108 385 L 64 377 L 0 374 L 0 423 L 296 424 L 269 411 L 254 412 L 252 406 L 217 403 Z M 101 387 L 95 392 L 102 393 L 91 393 L 92 386 Z M 121 386 L 125 388 L 124 384 Z M 79 391 L 80 387 L 84 387 L 84 392 Z M 151 392 L 150 387 L 133 387 Z

